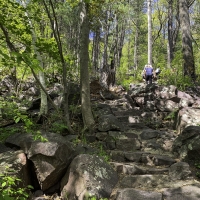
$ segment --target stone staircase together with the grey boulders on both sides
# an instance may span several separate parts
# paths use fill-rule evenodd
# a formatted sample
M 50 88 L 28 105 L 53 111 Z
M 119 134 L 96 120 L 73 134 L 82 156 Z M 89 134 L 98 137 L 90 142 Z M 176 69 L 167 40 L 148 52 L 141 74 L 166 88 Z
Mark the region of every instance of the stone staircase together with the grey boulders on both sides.
M 31 200 L 200 199 L 198 90 L 131 84 L 127 92 L 94 91 L 97 127 L 85 144 L 74 146 L 76 134 L 43 131 L 44 143 L 19 132 L 0 144 L 0 172 L 16 169 L 35 188 Z

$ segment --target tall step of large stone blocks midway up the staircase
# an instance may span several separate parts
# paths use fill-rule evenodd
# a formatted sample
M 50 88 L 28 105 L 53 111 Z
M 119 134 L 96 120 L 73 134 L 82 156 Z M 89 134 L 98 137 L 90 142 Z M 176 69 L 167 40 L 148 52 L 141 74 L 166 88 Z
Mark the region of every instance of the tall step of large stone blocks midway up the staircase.
M 92 137 L 95 138 L 93 135 Z M 106 143 L 107 149 L 124 150 L 124 151 L 155 151 L 160 153 L 172 151 L 172 144 L 175 136 L 167 131 L 159 131 L 152 129 L 129 129 L 123 132 L 109 131 L 99 132 L 96 134 L 98 140 Z

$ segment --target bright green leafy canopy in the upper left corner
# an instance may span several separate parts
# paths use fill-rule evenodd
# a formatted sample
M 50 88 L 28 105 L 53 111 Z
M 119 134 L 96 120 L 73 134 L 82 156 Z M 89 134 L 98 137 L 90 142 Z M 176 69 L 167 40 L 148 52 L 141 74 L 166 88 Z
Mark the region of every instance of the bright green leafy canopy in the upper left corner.
M 39 1 L 30 1 L 24 4 L 26 5 L 23 7 L 23 4 L 14 0 L 0 0 L 0 23 L 6 29 L 12 43 L 11 49 L 8 49 L 6 36 L 1 33 L 0 58 L 2 59 L 0 59 L 0 67 L 6 73 L 15 66 L 18 77 L 24 76 L 24 72 L 31 73 L 30 69 L 26 69 L 27 66 L 36 73 L 42 70 L 34 53 L 34 46 L 36 46 L 37 52 L 41 54 L 45 64 L 49 61 L 60 62 L 58 47 L 55 38 L 52 37 L 49 19 L 43 6 L 41 6 L 42 4 Z M 33 44 L 34 40 L 36 40 L 35 44 Z M 22 69 L 22 71 L 19 69 Z

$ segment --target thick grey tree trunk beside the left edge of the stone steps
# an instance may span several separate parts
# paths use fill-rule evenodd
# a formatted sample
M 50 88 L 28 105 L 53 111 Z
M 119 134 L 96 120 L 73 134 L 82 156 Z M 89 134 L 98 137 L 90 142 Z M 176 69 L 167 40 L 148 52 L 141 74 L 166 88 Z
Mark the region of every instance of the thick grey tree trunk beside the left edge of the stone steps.
M 81 3 L 80 20 L 80 82 L 81 82 L 81 109 L 85 128 L 93 128 L 95 124 L 90 104 L 89 84 L 89 21 L 87 16 L 87 4 Z

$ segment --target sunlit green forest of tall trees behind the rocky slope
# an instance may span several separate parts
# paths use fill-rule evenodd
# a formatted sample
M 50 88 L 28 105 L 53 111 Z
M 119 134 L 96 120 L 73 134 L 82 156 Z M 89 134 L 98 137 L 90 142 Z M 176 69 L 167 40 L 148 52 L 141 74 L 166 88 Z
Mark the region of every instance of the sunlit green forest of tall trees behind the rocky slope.
M 41 93 L 40 116 L 45 116 L 47 99 L 51 101 L 46 88 L 59 75 L 70 131 L 70 82 L 81 86 L 85 127 L 94 125 L 91 78 L 107 89 L 115 84 L 127 87 L 141 81 L 141 71 L 150 62 L 162 70 L 162 84 L 186 87 L 198 82 L 199 0 L 1 0 L 0 4 L 1 78 L 11 75 L 19 93 L 20 81 L 34 77 Z

